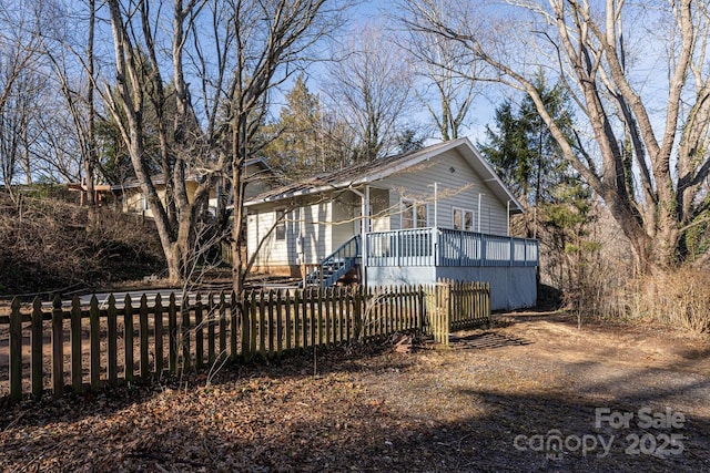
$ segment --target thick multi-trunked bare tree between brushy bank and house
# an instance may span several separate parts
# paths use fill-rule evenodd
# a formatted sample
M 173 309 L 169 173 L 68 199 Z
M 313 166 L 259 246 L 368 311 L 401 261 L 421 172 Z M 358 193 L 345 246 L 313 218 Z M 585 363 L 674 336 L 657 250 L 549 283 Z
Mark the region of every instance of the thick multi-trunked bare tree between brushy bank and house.
M 206 178 L 197 185 L 192 202 L 187 198 L 186 157 L 195 154 L 205 158 L 205 166 L 210 161 L 209 153 L 206 157 L 203 154 L 202 136 L 194 120 L 182 68 L 190 29 L 185 23 L 191 16 L 199 13 L 204 1 L 191 0 L 184 4 L 182 0 L 175 0 L 168 13 L 164 13 L 165 6 L 162 2 L 154 4 L 136 0 L 123 4 L 118 0 L 111 0 L 108 6 L 113 33 L 118 97 L 106 88 L 103 99 L 119 124 L 141 191 L 153 213 L 168 263 L 169 279 L 179 281 L 184 278 L 186 268 L 191 266 L 195 220 L 200 217 L 197 209 L 209 196 L 212 185 L 212 176 L 205 173 Z M 158 13 L 151 10 L 152 6 L 158 7 Z M 160 56 L 160 60 L 172 63 L 176 110 L 172 124 L 172 141 L 168 136 L 168 97 L 161 73 L 163 64 L 159 60 L 159 54 L 163 51 L 159 41 L 164 38 L 156 38 L 156 32 L 164 28 L 171 32 L 172 48 L 169 49 L 168 58 Z M 160 156 L 149 156 L 146 151 L 146 100 L 151 101 L 158 115 L 153 125 L 158 128 Z M 194 140 L 191 140 L 192 137 Z M 161 199 L 153 183 L 149 160 L 158 161 L 163 172 L 165 200 Z M 217 171 L 220 167 L 219 164 L 214 166 Z

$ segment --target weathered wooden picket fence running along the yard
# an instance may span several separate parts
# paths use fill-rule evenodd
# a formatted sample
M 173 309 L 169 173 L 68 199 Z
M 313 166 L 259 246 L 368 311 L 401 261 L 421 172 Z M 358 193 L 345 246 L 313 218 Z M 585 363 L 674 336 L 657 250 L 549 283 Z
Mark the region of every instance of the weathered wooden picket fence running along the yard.
M 122 302 L 122 304 L 121 304 Z M 98 390 L 136 379 L 267 359 L 314 347 L 366 342 L 419 331 L 448 343 L 453 330 L 490 320 L 487 284 L 439 281 L 429 286 L 306 288 L 195 295 L 160 295 L 149 305 L 110 296 L 88 307 L 79 298 L 51 309 L 37 298 L 23 310 L 13 300 L 0 316 L 0 398 L 17 402 L 48 389 Z M 3 333 L 4 332 L 4 333 Z M 138 357 L 136 357 L 138 356 Z

